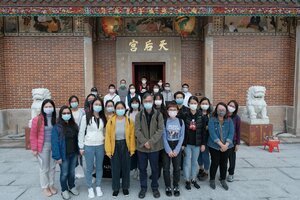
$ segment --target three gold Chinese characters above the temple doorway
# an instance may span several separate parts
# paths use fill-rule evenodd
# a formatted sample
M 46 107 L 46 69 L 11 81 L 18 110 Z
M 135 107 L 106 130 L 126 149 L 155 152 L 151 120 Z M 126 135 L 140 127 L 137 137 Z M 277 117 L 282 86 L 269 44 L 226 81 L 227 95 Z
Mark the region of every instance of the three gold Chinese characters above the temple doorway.
M 139 44 L 139 41 L 132 39 L 128 45 L 130 47 L 131 52 L 136 52 L 138 50 L 138 48 L 141 48 L 144 51 L 152 51 L 154 48 L 154 43 L 152 42 L 152 40 L 147 40 L 146 42 Z M 169 48 L 167 46 L 168 46 L 168 43 L 166 42 L 166 40 L 160 40 L 157 50 L 158 51 L 168 51 Z

